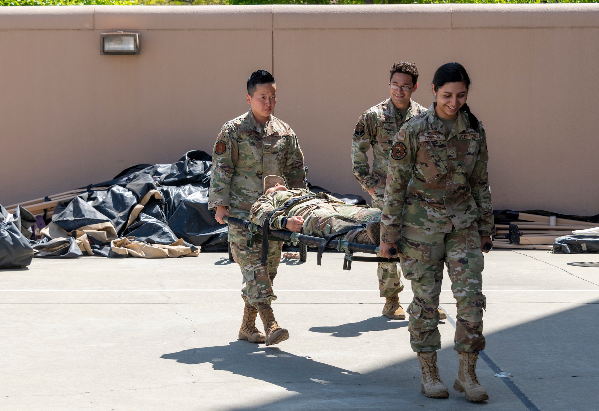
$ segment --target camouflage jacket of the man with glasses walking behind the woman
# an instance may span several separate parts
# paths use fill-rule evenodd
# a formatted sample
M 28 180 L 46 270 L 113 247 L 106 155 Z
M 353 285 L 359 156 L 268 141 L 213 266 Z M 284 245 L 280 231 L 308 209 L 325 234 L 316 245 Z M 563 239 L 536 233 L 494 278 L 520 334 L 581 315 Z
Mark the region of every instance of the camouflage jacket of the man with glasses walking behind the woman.
M 391 98 L 371 107 L 360 116 L 352 140 L 353 175 L 358 179 L 364 191 L 368 191 L 379 182 L 385 182 L 389 165 L 389 149 L 393 138 L 401 125 L 410 117 L 426 111 L 426 108 L 410 100 L 410 110 L 406 119 L 393 105 Z M 366 153 L 373 147 L 373 170 L 370 171 Z

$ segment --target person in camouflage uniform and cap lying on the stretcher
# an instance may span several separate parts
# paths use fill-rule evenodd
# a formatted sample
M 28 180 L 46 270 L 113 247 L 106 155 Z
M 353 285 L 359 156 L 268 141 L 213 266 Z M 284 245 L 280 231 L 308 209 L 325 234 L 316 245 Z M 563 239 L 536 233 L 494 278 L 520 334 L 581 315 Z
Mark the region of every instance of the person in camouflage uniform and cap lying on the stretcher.
M 293 200 L 293 204 L 284 207 L 285 203 Z M 267 176 L 264 178 L 264 195 L 252 206 L 250 220 L 264 226 L 268 214 L 277 208 L 282 209 L 271 214 L 270 229 L 288 229 L 322 238 L 332 233 L 341 234 L 343 231 L 345 234 L 341 240 L 379 245 L 379 208 L 345 204 L 322 192 L 313 193 L 302 188 L 288 189 L 281 177 Z

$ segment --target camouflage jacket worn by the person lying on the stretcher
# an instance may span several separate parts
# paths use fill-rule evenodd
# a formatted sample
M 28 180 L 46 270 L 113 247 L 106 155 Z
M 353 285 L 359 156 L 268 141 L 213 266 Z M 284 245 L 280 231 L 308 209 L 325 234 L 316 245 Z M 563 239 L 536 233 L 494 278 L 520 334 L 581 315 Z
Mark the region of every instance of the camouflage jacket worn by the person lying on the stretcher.
M 310 190 L 299 188 L 291 190 L 280 190 L 275 191 L 271 194 L 263 195 L 262 197 L 258 198 L 258 201 L 256 201 L 256 203 L 252 206 L 252 211 L 250 211 L 252 213 L 250 216 L 250 221 L 262 226 L 264 225 L 264 220 L 266 219 L 268 213 L 275 210 L 276 208 L 282 207 L 282 205 L 285 204 L 287 200 L 290 200 L 293 197 L 302 197 L 303 195 L 313 195 L 314 197 L 308 200 L 301 201 L 300 203 L 297 203 L 297 205 L 292 205 L 288 208 L 288 210 L 281 210 L 274 213 L 273 216 L 271 216 L 270 218 L 271 229 L 283 229 L 283 226 L 281 225 L 283 217 L 299 215 L 301 214 L 301 210 L 304 208 L 310 208 L 316 204 L 321 203 L 345 204 L 338 198 L 322 192 L 314 194 Z

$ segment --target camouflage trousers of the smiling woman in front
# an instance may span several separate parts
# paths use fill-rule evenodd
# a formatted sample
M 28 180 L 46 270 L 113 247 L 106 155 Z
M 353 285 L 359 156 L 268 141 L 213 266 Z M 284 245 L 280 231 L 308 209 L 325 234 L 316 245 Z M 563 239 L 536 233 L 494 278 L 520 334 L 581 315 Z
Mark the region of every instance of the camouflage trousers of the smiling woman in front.
M 404 257 L 401 270 L 412 281 L 414 300 L 408 307 L 410 344 L 415 352 L 431 352 L 441 348 L 439 295 L 443 280 L 443 264 L 452 282 L 453 298 L 458 309 L 455 344 L 458 352 L 485 349 L 482 294 L 484 258 L 476 225 L 460 231 L 427 232 L 404 227 L 399 244 Z

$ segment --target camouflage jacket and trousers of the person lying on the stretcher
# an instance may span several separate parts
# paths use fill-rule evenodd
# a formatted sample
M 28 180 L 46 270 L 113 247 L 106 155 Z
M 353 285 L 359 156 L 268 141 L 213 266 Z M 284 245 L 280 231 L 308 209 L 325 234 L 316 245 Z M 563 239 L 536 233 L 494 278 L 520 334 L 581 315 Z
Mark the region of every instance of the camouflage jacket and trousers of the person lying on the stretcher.
M 255 224 L 264 225 L 264 220 L 270 211 L 282 207 L 291 198 L 304 195 L 313 195 L 314 197 L 301 201 L 297 205 L 292 205 L 287 210 L 274 213 L 270 219 L 270 228 L 285 229 L 282 226 L 283 217 L 299 216 L 304 217 L 302 234 L 323 238 L 332 232 L 356 228 L 347 232 L 341 238 L 345 241 L 355 242 L 356 235 L 363 229 L 361 224 L 380 221 L 381 211 L 379 208 L 370 208 L 368 205 L 345 204 L 332 195 L 314 194 L 305 189 L 275 191 L 263 195 L 253 205 L 250 219 Z

